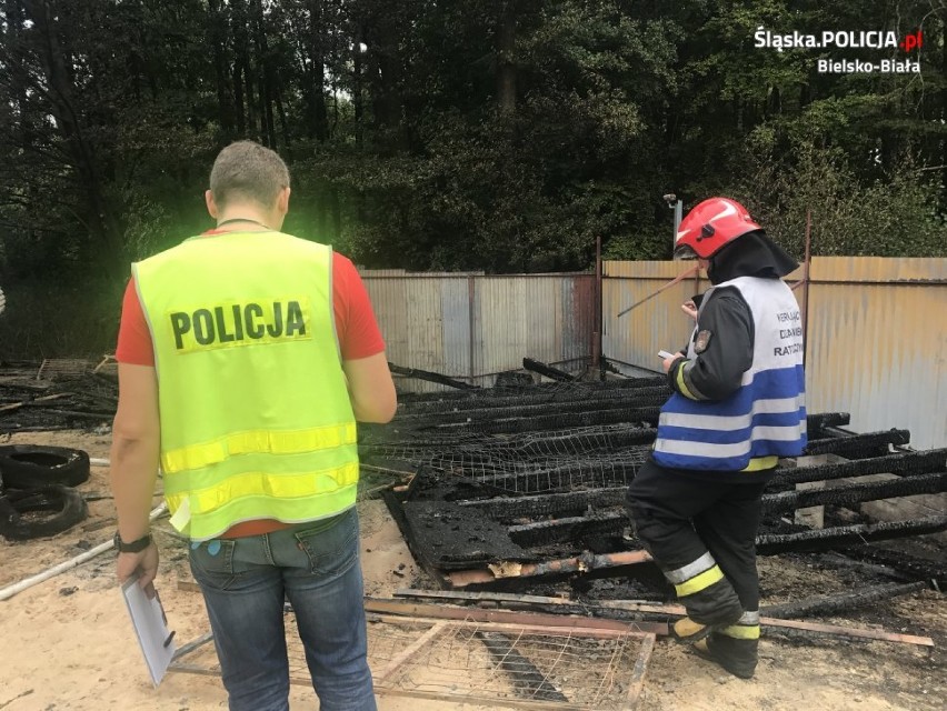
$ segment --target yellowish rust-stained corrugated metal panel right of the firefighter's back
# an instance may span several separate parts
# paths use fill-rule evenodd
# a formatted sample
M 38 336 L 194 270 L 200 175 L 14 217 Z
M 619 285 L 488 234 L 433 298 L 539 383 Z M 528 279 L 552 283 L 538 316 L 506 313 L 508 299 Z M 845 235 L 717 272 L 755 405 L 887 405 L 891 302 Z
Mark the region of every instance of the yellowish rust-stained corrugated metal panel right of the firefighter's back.
M 947 445 L 947 259 L 819 257 L 809 286 L 810 411 L 856 431 L 906 428 Z

